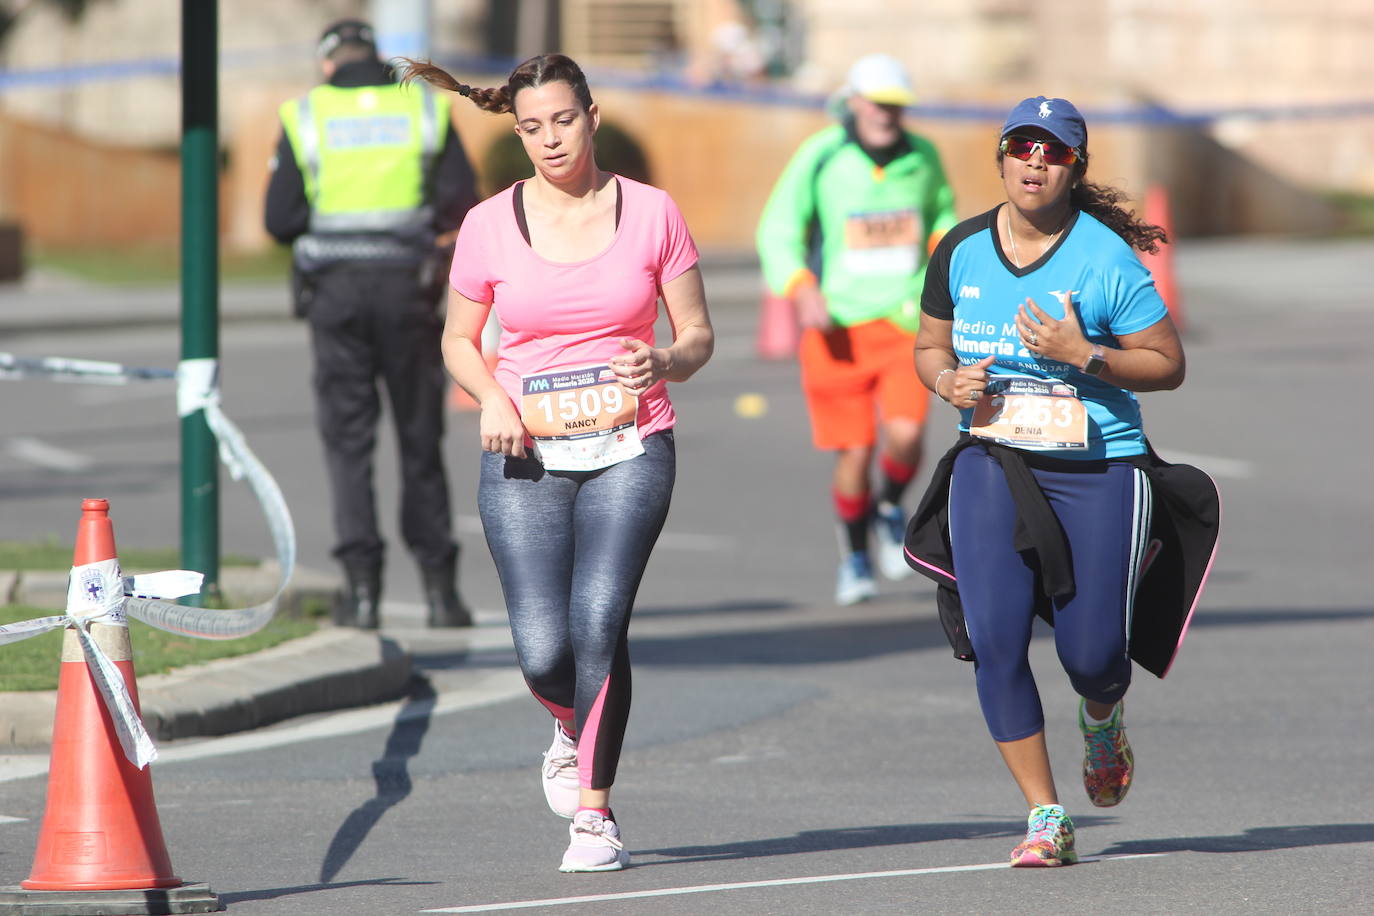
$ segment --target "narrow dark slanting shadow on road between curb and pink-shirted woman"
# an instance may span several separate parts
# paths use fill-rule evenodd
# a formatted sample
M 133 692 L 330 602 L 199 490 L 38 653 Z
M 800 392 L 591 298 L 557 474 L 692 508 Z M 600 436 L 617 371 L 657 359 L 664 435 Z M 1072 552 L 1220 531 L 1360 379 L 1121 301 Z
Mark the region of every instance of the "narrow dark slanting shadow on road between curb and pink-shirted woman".
M 405 705 L 396 713 L 392 733 L 386 736 L 386 748 L 379 759 L 372 761 L 376 795 L 353 809 L 334 834 L 330 849 L 324 853 L 324 864 L 320 865 L 320 882 L 331 882 L 382 820 L 382 814 L 411 794 L 411 775 L 407 765 L 419 754 L 425 742 L 436 698 L 434 687 L 427 680 L 412 681 Z

